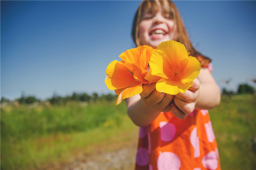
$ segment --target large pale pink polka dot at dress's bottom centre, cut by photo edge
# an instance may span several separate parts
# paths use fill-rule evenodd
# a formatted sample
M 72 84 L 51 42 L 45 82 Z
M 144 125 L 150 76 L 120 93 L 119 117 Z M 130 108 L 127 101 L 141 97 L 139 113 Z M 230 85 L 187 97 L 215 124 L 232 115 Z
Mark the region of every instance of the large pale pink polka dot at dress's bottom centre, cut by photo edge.
M 157 169 L 180 169 L 181 162 L 180 158 L 172 152 L 163 152 L 159 155 L 157 159 Z

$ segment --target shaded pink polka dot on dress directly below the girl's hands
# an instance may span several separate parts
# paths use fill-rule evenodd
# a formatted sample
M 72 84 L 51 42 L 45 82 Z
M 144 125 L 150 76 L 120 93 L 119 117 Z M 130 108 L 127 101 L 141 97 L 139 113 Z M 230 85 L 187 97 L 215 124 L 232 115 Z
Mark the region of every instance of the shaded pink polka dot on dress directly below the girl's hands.
M 159 127 L 161 140 L 164 142 L 172 141 L 176 134 L 176 127 L 174 124 L 169 122 L 160 122 Z

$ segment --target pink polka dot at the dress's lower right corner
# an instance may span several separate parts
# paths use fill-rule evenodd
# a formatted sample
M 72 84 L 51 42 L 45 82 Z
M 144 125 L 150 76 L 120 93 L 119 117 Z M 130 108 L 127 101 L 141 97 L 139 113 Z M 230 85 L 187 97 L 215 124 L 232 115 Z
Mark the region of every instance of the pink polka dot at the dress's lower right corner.
M 202 159 L 203 166 L 207 169 L 215 170 L 219 166 L 218 153 L 215 151 L 209 152 Z

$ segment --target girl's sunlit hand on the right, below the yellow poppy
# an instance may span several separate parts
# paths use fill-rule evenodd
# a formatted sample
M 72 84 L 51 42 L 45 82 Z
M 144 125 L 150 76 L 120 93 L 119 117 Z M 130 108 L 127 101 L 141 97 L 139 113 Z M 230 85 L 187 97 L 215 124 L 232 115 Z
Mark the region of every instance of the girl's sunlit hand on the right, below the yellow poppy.
M 174 96 L 171 104 L 173 115 L 179 119 L 185 119 L 188 114 L 193 112 L 200 92 L 199 87 L 200 82 L 196 78 L 193 80 L 193 85 L 186 92 L 180 92 Z

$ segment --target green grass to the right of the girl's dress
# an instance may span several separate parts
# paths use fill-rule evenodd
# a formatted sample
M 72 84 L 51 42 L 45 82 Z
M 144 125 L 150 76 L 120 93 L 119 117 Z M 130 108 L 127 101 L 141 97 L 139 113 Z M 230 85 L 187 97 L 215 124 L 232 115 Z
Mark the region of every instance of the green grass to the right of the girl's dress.
M 222 169 L 256 169 L 255 95 L 222 96 L 210 110 Z

